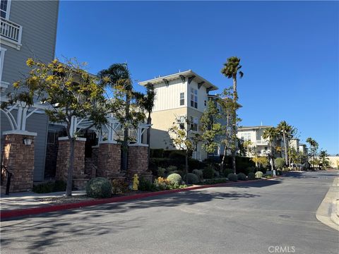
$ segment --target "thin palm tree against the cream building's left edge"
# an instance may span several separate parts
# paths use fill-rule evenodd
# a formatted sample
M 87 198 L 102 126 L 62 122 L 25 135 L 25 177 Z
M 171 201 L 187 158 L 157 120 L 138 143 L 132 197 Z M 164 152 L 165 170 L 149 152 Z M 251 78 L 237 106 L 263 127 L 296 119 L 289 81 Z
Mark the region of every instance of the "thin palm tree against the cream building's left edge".
M 145 85 L 146 94 L 145 95 L 136 95 L 138 105 L 144 109 L 147 116 L 147 124 L 152 124 L 152 118 L 150 114 L 153 111 L 154 102 L 155 102 L 155 90 L 151 83 Z M 150 128 L 147 129 L 147 145 L 148 145 L 148 165 L 150 164 Z

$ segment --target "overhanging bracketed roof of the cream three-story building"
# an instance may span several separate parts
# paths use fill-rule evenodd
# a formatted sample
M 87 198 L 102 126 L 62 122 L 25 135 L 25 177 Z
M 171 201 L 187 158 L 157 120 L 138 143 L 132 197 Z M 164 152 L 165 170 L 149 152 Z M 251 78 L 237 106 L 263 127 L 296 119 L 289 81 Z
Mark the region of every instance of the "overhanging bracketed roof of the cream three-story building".
M 155 84 L 164 83 L 165 80 L 171 81 L 171 80 L 176 80 L 176 79 L 182 78 L 182 77 L 187 78 L 187 79 L 194 77 L 194 80 L 196 82 L 202 83 L 202 85 L 205 86 L 206 88 L 209 88 L 210 91 L 218 90 L 217 86 L 213 85 L 208 80 L 206 80 L 205 78 L 203 78 L 200 75 L 196 74 L 192 70 L 182 71 L 182 72 L 179 72 L 179 73 L 174 73 L 174 74 L 165 75 L 165 76 L 160 76 L 158 78 L 153 78 L 151 80 L 141 81 L 138 84 L 145 86 L 148 83 L 151 83 L 151 84 L 155 85 Z

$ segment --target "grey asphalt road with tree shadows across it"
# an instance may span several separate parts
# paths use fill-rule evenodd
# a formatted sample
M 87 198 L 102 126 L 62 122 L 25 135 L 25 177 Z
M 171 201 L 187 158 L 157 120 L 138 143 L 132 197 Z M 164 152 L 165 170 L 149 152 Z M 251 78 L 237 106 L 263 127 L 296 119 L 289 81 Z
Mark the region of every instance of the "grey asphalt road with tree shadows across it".
M 337 254 L 338 231 L 316 219 L 333 176 L 295 173 L 1 222 L 1 253 Z

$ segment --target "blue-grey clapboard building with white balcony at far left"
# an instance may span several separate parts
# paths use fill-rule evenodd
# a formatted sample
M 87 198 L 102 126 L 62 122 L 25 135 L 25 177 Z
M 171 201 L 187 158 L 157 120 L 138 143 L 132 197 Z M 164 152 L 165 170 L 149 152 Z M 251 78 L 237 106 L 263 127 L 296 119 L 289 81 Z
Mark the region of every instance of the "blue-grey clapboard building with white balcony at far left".
M 59 1 L 1 0 L 0 84 L 1 102 L 29 68 L 28 58 L 49 62 L 54 59 Z M 35 111 L 32 111 L 35 110 Z M 1 109 L 1 151 L 5 133 L 35 135 L 34 181 L 44 180 L 48 118 L 42 110 L 16 105 Z

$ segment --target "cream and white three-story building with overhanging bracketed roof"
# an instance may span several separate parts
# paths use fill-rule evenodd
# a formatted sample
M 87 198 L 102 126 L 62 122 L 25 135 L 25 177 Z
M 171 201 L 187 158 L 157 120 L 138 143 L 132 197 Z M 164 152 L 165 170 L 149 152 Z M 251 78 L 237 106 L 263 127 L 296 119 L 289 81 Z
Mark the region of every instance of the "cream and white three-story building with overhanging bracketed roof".
M 172 75 L 159 76 L 140 82 L 140 85 L 152 84 L 155 88 L 155 105 L 152 112 L 151 148 L 174 150 L 170 144 L 169 128 L 176 119 L 191 119 L 188 128 L 191 133 L 199 132 L 199 119 L 207 107 L 208 92 L 218 87 L 194 71 L 183 71 Z M 206 159 L 207 153 L 198 143 L 193 157 Z

